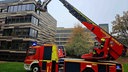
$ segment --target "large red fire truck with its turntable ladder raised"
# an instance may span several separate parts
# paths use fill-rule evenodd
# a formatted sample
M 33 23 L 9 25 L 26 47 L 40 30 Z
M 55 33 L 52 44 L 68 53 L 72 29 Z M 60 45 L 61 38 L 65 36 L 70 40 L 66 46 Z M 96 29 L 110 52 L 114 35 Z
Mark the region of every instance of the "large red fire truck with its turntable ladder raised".
M 60 0 L 60 2 L 75 18 L 97 36 L 96 40 L 100 43 L 100 47 L 95 47 L 93 52 L 89 54 L 83 54 L 81 59 L 64 59 L 63 71 L 60 71 L 56 45 L 31 46 L 27 50 L 24 68 L 33 72 L 123 72 L 122 65 L 114 60 L 125 55 L 127 47 L 66 0 Z

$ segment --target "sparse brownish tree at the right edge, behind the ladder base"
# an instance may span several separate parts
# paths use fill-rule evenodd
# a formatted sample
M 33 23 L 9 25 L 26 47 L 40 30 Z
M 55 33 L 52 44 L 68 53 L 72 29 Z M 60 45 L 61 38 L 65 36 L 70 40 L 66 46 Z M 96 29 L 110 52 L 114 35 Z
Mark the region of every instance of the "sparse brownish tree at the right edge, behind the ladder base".
M 128 46 L 128 12 L 124 12 L 122 17 L 117 15 L 112 24 L 111 34 L 115 35 L 122 44 Z

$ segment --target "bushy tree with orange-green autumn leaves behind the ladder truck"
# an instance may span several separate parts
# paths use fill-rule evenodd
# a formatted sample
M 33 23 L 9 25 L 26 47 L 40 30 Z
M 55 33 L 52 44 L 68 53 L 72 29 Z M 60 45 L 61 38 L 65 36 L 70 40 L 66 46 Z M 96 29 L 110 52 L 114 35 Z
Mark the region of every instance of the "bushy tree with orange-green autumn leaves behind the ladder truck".
M 67 55 L 80 57 L 82 54 L 87 53 L 88 49 L 93 46 L 91 37 L 90 32 L 85 31 L 82 26 L 76 25 L 68 43 L 65 45 Z

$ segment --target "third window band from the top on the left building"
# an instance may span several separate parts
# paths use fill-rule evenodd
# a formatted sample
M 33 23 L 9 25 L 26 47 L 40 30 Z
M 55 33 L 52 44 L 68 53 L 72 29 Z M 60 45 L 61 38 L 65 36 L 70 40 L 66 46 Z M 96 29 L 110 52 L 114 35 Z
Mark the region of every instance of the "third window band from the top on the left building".
M 3 36 L 16 36 L 23 38 L 37 38 L 38 31 L 32 28 L 14 28 L 14 29 L 4 29 Z

